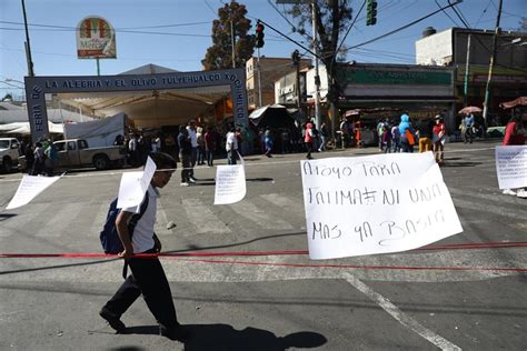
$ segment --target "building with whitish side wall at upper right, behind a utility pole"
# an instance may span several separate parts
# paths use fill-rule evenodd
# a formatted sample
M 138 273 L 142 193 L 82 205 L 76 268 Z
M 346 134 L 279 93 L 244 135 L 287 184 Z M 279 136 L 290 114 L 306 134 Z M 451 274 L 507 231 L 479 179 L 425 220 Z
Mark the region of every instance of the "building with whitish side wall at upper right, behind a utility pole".
M 457 108 L 483 108 L 494 32 L 429 28 L 416 41 L 416 63 L 455 69 Z M 499 103 L 527 94 L 527 33 L 500 32 L 497 38 L 489 100 L 489 124 L 503 123 Z M 467 64 L 468 62 L 468 64 Z M 467 71 L 468 67 L 468 71 Z

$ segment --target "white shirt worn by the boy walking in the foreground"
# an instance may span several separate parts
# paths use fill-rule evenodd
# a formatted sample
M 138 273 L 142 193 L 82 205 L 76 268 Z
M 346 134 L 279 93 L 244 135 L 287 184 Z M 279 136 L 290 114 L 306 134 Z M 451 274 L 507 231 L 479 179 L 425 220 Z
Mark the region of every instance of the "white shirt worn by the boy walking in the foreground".
M 141 219 L 137 222 L 132 234 L 133 253 L 141 253 L 153 248 L 153 225 L 156 224 L 156 213 L 158 209 L 158 194 L 152 185 L 148 187 L 148 207 Z M 122 211 L 139 213 L 141 205 L 123 208 Z

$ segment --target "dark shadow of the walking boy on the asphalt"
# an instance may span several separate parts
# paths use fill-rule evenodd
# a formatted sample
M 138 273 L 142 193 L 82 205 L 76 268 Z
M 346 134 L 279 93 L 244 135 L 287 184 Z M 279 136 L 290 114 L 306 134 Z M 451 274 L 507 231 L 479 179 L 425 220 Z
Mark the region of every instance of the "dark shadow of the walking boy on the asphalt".
M 183 341 L 186 351 L 205 350 L 265 350 L 284 351 L 289 348 L 317 348 L 327 339 L 316 332 L 301 331 L 277 337 L 268 330 L 247 327 L 236 330 L 228 324 L 186 324 L 190 337 Z M 158 334 L 159 327 L 141 325 L 127 328 L 129 334 Z

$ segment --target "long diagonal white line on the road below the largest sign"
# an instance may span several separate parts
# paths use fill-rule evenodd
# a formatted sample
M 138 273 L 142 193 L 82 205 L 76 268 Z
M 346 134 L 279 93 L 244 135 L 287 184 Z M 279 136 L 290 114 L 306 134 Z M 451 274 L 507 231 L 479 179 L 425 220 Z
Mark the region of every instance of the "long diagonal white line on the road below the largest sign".
M 392 318 L 395 318 L 399 323 L 414 331 L 421 338 L 428 340 L 430 343 L 435 344 L 441 350 L 461 350 L 458 345 L 455 345 L 450 341 L 446 340 L 441 335 L 435 333 L 428 328 L 421 325 L 418 321 L 411 317 L 402 313 L 394 303 L 388 299 L 382 297 L 380 293 L 374 291 L 371 288 L 366 285 L 364 282 L 355 278 L 352 274 L 344 273 L 345 279 L 354 288 L 367 295 L 371 301 L 376 302 L 382 310 L 388 312 Z

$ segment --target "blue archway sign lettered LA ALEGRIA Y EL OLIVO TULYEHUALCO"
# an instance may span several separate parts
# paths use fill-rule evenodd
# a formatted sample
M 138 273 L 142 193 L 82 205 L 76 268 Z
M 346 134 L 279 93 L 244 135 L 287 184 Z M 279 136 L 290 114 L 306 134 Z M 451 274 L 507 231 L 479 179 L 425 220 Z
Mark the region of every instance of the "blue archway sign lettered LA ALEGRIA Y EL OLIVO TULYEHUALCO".
M 237 127 L 248 127 L 246 71 L 243 69 L 131 76 L 24 77 L 31 140 L 49 134 L 46 94 L 109 92 L 230 86 Z

